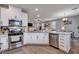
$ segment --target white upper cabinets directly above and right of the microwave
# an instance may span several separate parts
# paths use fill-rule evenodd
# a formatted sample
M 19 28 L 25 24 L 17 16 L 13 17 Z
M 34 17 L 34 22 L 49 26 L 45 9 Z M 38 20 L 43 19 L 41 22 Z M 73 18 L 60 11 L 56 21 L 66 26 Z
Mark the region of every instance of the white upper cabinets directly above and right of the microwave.
M 26 12 L 22 12 L 22 9 L 9 6 L 9 19 L 22 20 L 22 26 L 27 26 L 28 15 Z

